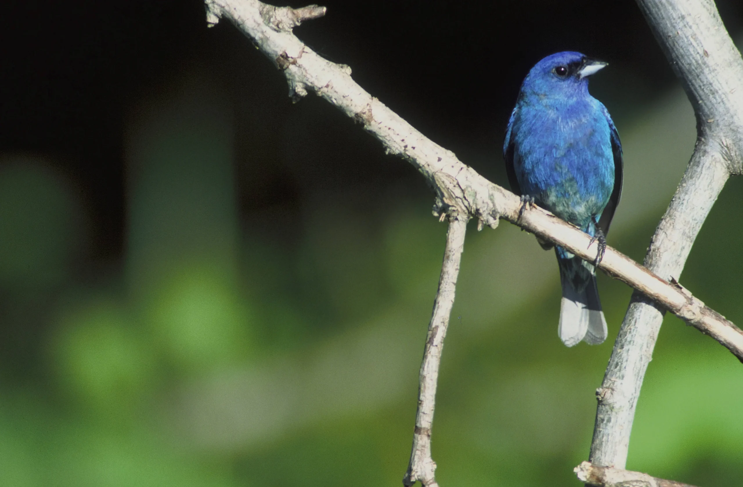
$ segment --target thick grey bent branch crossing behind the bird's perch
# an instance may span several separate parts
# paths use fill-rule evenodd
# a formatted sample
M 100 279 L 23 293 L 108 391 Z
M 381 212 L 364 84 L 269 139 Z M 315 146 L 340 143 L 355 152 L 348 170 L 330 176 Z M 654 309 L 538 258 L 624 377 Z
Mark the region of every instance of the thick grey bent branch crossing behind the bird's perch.
M 650 271 L 675 282 L 727 178 L 742 171 L 743 60 L 712 0 L 637 4 L 681 79 L 697 119 L 694 154 L 645 258 Z M 597 390 L 590 455 L 596 465 L 626 465 L 635 406 L 663 313 L 658 302 L 638 292 L 632 295 Z

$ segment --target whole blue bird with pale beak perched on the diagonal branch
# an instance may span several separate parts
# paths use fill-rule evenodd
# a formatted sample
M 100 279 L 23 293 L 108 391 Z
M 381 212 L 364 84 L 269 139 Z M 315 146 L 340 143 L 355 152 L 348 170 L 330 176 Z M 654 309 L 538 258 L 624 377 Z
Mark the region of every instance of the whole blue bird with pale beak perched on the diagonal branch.
M 595 266 L 622 192 L 623 162 L 609 111 L 588 94 L 588 76 L 605 66 L 571 51 L 536 63 L 521 85 L 503 143 L 508 182 L 522 197 L 522 211 L 536 203 L 598 241 L 593 264 L 555 247 L 562 284 L 558 334 L 568 347 L 606 339 Z

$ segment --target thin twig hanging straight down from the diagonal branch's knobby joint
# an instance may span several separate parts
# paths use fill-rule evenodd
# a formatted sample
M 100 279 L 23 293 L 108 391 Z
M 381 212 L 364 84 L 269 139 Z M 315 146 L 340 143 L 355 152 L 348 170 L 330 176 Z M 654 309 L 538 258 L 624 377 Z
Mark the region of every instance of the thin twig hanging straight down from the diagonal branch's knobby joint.
M 438 382 L 438 365 L 441 363 L 441 351 L 444 338 L 447 336 L 449 316 L 454 305 L 454 293 L 459 274 L 459 262 L 464 249 L 464 234 L 467 231 L 467 215 L 449 215 L 447 247 L 444 250 L 444 264 L 441 265 L 441 278 L 438 280 L 438 292 L 433 304 L 431 323 L 428 326 L 426 346 L 418 385 L 418 411 L 415 414 L 415 431 L 410 454 L 408 471 L 403 484 L 412 486 L 417 480 L 424 487 L 438 487 L 434 472 L 436 463 L 431 458 L 431 427 Z

